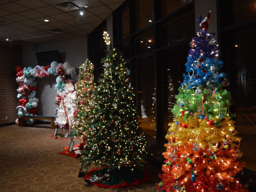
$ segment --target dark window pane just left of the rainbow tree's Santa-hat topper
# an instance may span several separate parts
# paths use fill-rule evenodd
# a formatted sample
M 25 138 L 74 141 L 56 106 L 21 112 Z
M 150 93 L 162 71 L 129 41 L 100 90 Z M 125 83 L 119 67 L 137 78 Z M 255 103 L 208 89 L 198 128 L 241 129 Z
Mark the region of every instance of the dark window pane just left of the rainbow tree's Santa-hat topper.
M 163 25 L 162 44 L 175 45 L 190 41 L 194 34 L 193 14 L 183 15 L 178 20 L 172 20 Z

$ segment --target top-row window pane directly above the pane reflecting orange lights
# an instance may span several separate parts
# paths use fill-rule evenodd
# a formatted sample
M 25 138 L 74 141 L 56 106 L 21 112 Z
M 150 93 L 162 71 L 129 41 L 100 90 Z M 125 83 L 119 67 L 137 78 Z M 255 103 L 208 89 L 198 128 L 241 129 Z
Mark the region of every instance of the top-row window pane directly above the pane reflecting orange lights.
M 140 30 L 154 21 L 154 0 L 136 1 L 136 24 Z

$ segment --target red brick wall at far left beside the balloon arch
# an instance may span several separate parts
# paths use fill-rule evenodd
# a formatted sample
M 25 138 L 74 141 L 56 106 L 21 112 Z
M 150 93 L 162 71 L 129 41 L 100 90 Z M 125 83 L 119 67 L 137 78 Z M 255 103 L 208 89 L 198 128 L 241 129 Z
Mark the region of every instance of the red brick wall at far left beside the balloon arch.
M 0 124 L 13 123 L 18 117 L 18 84 L 14 70 L 18 65 L 22 66 L 22 47 L 0 43 Z

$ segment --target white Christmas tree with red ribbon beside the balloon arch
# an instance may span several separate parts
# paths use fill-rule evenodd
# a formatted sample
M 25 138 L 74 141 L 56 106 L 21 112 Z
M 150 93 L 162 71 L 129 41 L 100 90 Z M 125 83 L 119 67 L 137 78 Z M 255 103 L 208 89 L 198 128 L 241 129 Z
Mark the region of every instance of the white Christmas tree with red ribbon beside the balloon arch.
M 60 128 L 69 128 L 69 133 L 74 124 L 74 112 L 76 110 L 76 91 L 73 83 L 71 82 L 71 75 L 66 75 L 66 83 L 64 86 L 64 97 L 60 102 L 60 108 L 57 112 L 57 117 L 55 123 L 60 126 Z

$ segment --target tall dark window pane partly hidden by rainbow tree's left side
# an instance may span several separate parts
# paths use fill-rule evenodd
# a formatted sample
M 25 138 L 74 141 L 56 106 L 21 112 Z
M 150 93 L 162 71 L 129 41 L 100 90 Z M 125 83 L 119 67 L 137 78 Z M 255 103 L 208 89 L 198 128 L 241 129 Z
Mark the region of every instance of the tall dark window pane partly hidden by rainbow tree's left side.
M 171 109 L 176 104 L 175 95 L 178 94 L 180 83 L 183 82 L 185 63 L 187 61 L 189 45 L 171 49 L 163 53 L 164 63 L 164 134 L 168 124 L 172 122 Z

